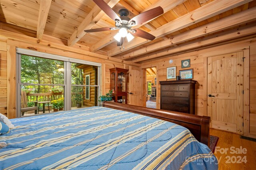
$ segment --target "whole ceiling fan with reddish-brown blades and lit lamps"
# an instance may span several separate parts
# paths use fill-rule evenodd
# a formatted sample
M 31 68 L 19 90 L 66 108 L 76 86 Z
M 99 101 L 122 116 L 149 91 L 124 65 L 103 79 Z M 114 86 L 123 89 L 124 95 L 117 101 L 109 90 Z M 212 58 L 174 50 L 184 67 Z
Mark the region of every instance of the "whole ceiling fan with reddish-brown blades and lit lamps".
M 124 37 L 127 38 L 128 42 L 134 37 L 132 35 L 145 38 L 147 40 L 154 40 L 156 37 L 148 32 L 140 30 L 138 28 L 132 28 L 133 26 L 140 25 L 148 20 L 152 20 L 162 14 L 164 10 L 162 7 L 158 6 L 146 12 L 142 12 L 137 16 L 130 19 L 128 17 L 129 11 L 126 9 L 119 10 L 119 16 L 104 2 L 104 0 L 93 0 L 101 9 L 104 11 L 112 20 L 115 21 L 116 27 L 105 27 L 105 28 L 96 28 L 91 30 L 84 30 L 84 32 L 101 32 L 108 30 L 119 30 L 118 34 L 114 38 L 118 41 L 117 45 L 121 46 L 124 43 Z M 131 35 L 132 34 L 132 35 Z

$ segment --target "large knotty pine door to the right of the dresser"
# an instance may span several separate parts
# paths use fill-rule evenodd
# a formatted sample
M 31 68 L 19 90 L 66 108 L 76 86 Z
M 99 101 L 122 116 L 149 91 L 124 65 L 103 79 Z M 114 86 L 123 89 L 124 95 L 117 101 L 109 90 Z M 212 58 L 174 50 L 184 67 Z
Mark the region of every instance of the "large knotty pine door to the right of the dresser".
M 243 52 L 208 57 L 207 114 L 211 127 L 243 133 Z

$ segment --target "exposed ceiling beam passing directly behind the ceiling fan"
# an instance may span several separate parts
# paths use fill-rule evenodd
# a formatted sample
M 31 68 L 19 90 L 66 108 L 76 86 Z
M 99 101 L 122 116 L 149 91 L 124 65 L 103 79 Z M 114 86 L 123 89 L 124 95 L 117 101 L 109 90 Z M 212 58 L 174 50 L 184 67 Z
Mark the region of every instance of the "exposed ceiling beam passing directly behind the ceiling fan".
M 165 13 L 165 12 L 168 12 L 169 10 L 171 10 L 172 8 L 174 8 L 175 6 L 177 6 L 179 4 L 182 4 L 184 1 L 185 0 L 168 0 L 168 1 L 163 0 L 163 1 L 158 1 L 155 4 L 149 6 L 148 8 L 145 8 L 142 12 L 145 12 L 145 11 L 150 10 L 152 8 L 156 8 L 157 6 L 161 6 L 164 9 L 164 13 Z M 141 26 L 147 24 L 148 22 L 145 22 L 145 23 L 140 24 L 138 26 L 134 26 L 133 28 L 140 28 Z M 99 49 L 101 49 L 103 47 L 106 47 L 110 43 L 114 42 L 114 36 L 115 36 L 114 34 L 109 34 L 108 36 L 102 38 L 100 41 L 98 41 L 94 45 L 91 45 L 90 51 L 95 52 L 95 51 L 98 51 Z

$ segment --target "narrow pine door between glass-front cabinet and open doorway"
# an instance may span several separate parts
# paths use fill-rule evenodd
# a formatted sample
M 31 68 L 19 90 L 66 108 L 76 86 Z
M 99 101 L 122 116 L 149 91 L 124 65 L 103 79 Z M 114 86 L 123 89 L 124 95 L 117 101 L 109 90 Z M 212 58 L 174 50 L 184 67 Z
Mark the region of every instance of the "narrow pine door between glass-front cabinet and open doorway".
M 142 106 L 142 69 L 129 67 L 128 104 Z

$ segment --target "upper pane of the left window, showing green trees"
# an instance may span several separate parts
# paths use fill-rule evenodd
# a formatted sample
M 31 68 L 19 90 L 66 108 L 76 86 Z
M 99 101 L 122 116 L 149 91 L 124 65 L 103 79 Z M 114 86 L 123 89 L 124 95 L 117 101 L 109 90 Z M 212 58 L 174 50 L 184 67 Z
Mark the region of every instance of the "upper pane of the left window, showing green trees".
M 22 54 L 21 83 L 64 84 L 64 61 Z

